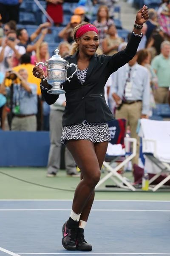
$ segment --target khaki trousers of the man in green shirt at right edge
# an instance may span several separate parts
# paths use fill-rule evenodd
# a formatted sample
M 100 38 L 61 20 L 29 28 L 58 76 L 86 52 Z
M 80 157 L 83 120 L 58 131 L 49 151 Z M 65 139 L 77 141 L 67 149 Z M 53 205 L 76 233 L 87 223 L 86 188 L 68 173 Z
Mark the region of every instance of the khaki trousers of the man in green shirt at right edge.
M 158 103 L 158 104 L 168 103 L 168 95 L 169 95 L 168 88 L 158 87 L 157 89 L 153 90 L 155 103 Z

